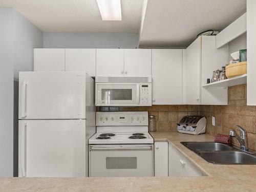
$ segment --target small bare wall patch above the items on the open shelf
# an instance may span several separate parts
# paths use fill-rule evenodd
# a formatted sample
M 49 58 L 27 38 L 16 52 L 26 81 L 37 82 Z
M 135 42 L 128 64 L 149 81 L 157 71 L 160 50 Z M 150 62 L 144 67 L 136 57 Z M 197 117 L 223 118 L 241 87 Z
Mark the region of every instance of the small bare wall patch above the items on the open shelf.
M 246 49 L 246 48 L 247 48 L 247 40 L 246 40 L 246 33 L 244 33 L 243 35 L 239 36 L 238 38 L 228 43 L 229 60 L 232 59 L 232 57 L 230 56 L 231 53 L 239 51 L 240 49 Z

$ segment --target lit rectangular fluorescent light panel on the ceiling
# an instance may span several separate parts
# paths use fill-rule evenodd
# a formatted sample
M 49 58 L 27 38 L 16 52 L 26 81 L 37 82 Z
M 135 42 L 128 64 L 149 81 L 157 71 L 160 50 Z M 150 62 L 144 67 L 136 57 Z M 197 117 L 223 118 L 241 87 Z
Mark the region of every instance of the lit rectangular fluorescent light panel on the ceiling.
M 97 0 L 102 20 L 122 20 L 121 0 Z

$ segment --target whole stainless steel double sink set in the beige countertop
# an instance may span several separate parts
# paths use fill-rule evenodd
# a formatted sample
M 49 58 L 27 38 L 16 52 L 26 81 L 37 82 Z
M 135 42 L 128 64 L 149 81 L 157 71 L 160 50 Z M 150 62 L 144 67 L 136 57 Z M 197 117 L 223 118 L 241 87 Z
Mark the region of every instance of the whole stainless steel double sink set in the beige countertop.
M 180 142 L 209 163 L 256 164 L 256 157 L 233 145 L 215 142 Z

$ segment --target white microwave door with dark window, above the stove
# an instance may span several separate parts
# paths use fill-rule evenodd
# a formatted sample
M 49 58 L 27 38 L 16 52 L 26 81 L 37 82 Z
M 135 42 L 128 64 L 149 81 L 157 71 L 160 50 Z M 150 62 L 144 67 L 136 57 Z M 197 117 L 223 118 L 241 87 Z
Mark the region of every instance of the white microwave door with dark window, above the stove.
M 139 105 L 139 83 L 96 83 L 97 106 Z

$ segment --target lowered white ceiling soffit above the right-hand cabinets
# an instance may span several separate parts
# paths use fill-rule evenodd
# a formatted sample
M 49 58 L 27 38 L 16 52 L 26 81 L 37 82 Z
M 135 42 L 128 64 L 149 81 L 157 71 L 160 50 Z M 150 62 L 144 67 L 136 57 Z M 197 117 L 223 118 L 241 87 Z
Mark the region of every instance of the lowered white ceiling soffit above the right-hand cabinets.
M 139 47 L 187 47 L 198 33 L 222 30 L 246 12 L 246 0 L 148 0 Z

